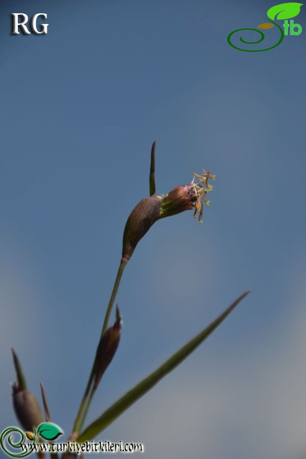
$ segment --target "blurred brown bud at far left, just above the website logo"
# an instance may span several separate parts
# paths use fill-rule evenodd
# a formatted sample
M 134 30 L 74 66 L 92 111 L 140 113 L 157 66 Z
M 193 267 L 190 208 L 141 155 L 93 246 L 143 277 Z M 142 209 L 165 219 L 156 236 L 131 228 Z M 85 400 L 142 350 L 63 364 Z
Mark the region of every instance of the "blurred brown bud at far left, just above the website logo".
M 25 430 L 33 431 L 34 427 L 43 422 L 42 413 L 35 395 L 27 389 L 19 389 L 18 383 L 14 382 L 12 396 L 18 421 Z

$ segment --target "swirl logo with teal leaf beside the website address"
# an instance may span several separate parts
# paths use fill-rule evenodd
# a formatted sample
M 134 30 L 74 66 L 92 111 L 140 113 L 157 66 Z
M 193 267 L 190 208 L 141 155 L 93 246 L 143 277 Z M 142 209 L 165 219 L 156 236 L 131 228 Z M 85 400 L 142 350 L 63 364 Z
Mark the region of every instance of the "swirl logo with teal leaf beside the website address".
M 35 448 L 35 444 L 41 442 L 39 437 L 47 442 L 51 442 L 63 433 L 61 428 L 53 422 L 43 422 L 37 429 L 34 428 L 33 430 L 34 432 L 23 432 L 18 427 L 7 427 L 4 429 L 0 436 L 0 445 L 4 452 L 11 457 L 28 456 L 38 450 Z M 14 434 L 16 433 L 20 436 L 19 441 L 14 440 Z M 25 437 L 32 443 L 25 442 Z M 6 441 L 8 445 L 5 444 Z M 17 449 L 19 452 L 13 452 L 11 449 Z

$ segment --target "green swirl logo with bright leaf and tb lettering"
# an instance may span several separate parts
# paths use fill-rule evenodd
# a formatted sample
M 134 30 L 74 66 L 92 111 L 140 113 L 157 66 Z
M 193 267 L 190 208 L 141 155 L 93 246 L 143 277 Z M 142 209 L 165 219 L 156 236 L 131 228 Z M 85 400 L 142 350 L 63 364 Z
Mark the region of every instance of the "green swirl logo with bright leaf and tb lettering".
M 248 53 L 259 53 L 261 51 L 268 51 L 269 49 L 275 48 L 276 46 L 278 46 L 279 44 L 282 43 L 282 41 L 284 40 L 284 36 L 288 35 L 288 33 L 290 35 L 299 35 L 301 33 L 301 31 L 302 31 L 301 25 L 297 24 L 297 23 L 294 23 L 294 20 L 291 19 L 291 18 L 293 18 L 293 17 L 295 17 L 295 16 L 297 16 L 299 14 L 300 7 L 302 5 L 303 5 L 302 3 L 282 3 L 280 5 L 275 5 L 274 7 L 270 8 L 267 11 L 267 16 L 268 16 L 269 19 L 268 18 L 262 18 L 262 19 L 265 19 L 265 20 L 267 20 L 269 22 L 264 22 L 262 24 L 259 24 L 257 26 L 257 29 L 268 30 L 268 29 L 272 29 L 274 26 L 276 26 L 276 28 L 281 33 L 281 37 L 279 38 L 278 42 L 276 44 L 274 44 L 273 46 L 269 46 L 269 47 L 267 47 L 265 49 L 243 49 L 243 48 L 240 48 L 238 46 L 238 44 L 240 45 L 240 43 L 234 44 L 232 42 L 232 36 L 236 32 L 242 32 L 244 30 L 251 30 L 253 32 L 257 32 L 258 34 L 260 34 L 260 39 L 257 40 L 257 41 L 246 41 L 241 36 L 240 37 L 240 41 L 242 43 L 245 43 L 247 45 L 255 45 L 255 44 L 261 43 L 265 39 L 264 33 L 261 32 L 260 30 L 248 29 L 248 28 L 237 29 L 237 30 L 234 30 L 233 32 L 231 32 L 227 36 L 227 43 L 230 46 L 232 46 L 233 48 L 238 49 L 239 51 L 246 51 Z M 278 19 L 278 20 L 286 19 L 286 20 L 285 20 L 285 22 L 283 24 L 279 25 L 277 22 L 274 22 L 275 19 Z M 290 19 L 290 22 L 288 22 L 287 19 Z M 283 28 L 284 28 L 284 30 L 283 30 Z

